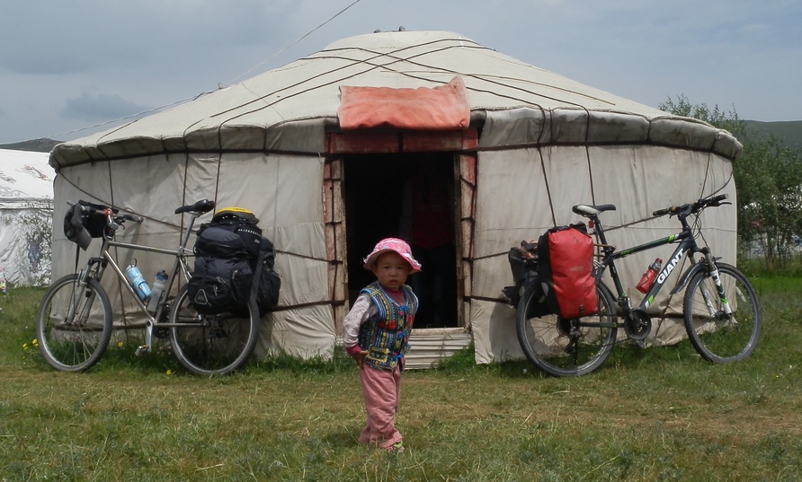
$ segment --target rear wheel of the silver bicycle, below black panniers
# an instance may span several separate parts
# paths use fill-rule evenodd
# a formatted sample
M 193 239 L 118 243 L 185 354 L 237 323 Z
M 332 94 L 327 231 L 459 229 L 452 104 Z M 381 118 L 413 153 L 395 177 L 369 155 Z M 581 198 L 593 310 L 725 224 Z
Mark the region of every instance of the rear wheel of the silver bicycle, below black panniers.
M 259 309 L 249 302 L 243 314 L 202 315 L 192 308 L 187 287 L 175 298 L 170 339 L 184 368 L 198 375 L 224 375 L 245 364 L 259 334 Z

